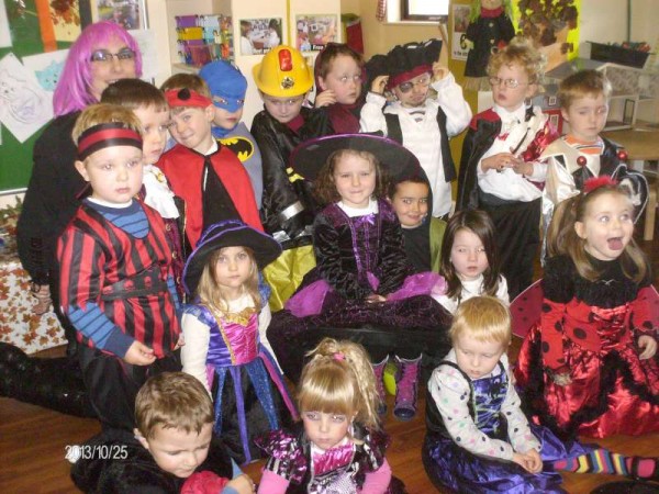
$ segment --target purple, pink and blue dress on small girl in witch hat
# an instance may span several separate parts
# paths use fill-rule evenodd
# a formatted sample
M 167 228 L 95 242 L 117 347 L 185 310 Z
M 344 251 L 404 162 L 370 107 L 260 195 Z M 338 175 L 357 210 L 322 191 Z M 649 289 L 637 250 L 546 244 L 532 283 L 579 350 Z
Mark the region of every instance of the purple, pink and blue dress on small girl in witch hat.
M 205 305 L 188 305 L 185 312 L 210 327 L 206 374 L 215 396 L 214 431 L 237 463 L 257 460 L 254 438 L 298 417 L 275 358 L 259 341 L 258 313 L 243 316 L 242 324 L 241 317 L 215 316 Z

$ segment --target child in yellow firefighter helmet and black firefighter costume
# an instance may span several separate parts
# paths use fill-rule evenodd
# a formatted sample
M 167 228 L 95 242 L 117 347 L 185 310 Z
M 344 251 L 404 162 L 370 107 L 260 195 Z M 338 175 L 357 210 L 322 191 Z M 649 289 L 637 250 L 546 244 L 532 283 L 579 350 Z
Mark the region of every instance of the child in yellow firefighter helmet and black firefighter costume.
M 324 113 L 302 105 L 313 72 L 299 50 L 286 45 L 272 48 L 253 75 L 264 100 L 264 110 L 252 123 L 263 161 L 261 221 L 283 249 L 264 269 L 264 277 L 272 288 L 270 308 L 279 311 L 315 266 L 311 225 L 317 206 L 311 186 L 289 168 L 289 158 L 300 143 L 330 134 L 331 127 Z

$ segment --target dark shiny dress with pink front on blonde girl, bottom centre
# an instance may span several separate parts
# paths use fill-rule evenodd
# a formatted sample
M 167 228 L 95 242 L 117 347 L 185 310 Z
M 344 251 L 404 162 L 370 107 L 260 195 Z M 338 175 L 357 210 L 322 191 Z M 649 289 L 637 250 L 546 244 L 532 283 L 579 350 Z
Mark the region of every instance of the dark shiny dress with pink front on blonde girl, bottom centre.
M 357 441 L 317 453 L 300 429 L 273 430 L 256 440 L 268 457 L 264 470 L 289 481 L 287 494 L 356 494 L 366 475 L 384 462 L 389 442 L 384 433 L 356 425 L 353 436 Z M 403 493 L 404 484 L 392 478 L 387 494 Z

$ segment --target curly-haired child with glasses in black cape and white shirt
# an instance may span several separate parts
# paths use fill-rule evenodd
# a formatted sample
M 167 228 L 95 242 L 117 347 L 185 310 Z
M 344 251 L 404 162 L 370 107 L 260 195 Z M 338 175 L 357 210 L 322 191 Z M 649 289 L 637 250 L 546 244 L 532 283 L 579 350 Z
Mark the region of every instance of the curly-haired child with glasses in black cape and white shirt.
M 544 67 L 544 56 L 521 37 L 492 55 L 494 106 L 474 116 L 462 145 L 457 209 L 491 216 L 511 300 L 533 279 L 547 173 L 538 158 L 558 137 L 548 116 L 530 103 Z

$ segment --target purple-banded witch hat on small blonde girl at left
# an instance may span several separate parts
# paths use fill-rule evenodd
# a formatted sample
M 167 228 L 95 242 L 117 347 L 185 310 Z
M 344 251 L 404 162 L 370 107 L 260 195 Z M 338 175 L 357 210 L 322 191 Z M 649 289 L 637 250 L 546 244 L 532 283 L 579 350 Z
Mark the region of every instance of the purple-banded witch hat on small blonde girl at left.
M 270 235 L 259 232 L 239 220 L 228 220 L 209 226 L 201 235 L 183 269 L 183 288 L 190 295 L 197 291 L 203 268 L 211 255 L 223 247 L 248 247 L 259 269 L 281 254 L 281 246 Z

